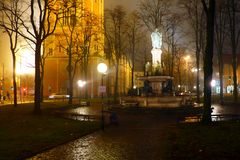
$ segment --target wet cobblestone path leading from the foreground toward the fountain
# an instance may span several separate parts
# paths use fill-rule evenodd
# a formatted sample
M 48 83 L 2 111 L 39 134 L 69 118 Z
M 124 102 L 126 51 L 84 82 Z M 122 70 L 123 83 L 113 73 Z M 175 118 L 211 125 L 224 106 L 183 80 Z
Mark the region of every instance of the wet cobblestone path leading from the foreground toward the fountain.
M 174 120 L 153 115 L 119 115 L 108 126 L 32 157 L 32 160 L 161 160 L 164 128 Z

